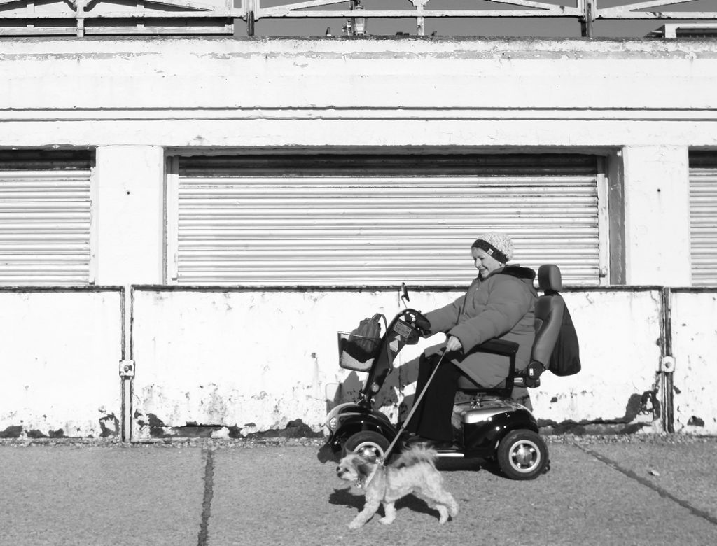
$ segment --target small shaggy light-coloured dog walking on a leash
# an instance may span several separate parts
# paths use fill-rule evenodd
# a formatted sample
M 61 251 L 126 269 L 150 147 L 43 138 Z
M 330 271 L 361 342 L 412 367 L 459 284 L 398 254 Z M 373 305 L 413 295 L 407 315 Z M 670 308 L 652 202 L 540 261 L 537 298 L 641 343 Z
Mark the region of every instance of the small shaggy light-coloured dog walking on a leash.
M 389 466 L 374 456 L 351 453 L 343 457 L 336 467 L 338 477 L 364 489 L 364 509 L 348 524 L 359 529 L 374 516 L 379 505 L 384 505 L 384 517 L 379 522 L 389 525 L 396 519 L 394 503 L 413 493 L 440 514 L 439 523 L 448 517 L 455 518 L 458 504 L 452 494 L 443 489 L 443 476 L 435 466 L 436 452 L 423 446 L 414 446 Z

